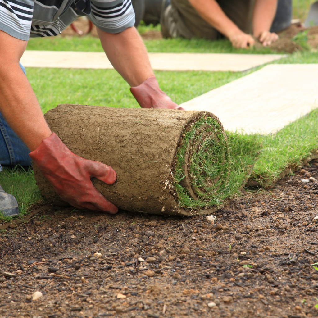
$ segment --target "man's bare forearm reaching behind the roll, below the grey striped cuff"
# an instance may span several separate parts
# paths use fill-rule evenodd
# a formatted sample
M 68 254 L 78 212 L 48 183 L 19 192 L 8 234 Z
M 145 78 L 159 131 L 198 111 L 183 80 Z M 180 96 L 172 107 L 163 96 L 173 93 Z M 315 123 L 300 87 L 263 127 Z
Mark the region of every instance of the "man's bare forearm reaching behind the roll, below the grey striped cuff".
M 154 75 L 135 27 L 115 34 L 97 29 L 97 33 L 107 58 L 130 86 L 138 86 Z

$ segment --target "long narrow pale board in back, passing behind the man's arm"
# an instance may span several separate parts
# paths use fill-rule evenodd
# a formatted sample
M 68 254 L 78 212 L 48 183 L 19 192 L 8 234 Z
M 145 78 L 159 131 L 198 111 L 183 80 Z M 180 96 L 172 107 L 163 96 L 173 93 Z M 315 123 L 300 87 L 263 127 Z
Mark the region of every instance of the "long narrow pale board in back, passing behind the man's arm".
M 162 71 L 245 71 L 286 55 L 217 53 L 148 53 L 154 70 Z M 25 67 L 113 68 L 104 52 L 25 51 Z

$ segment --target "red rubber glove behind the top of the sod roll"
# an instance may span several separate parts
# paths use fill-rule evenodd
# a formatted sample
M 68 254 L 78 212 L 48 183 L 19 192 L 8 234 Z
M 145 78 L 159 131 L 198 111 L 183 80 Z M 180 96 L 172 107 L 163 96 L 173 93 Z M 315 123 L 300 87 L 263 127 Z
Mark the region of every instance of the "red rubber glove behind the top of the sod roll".
M 184 110 L 174 103 L 169 96 L 159 88 L 155 76 L 150 76 L 139 86 L 130 87 L 138 104 L 142 108 L 166 108 Z

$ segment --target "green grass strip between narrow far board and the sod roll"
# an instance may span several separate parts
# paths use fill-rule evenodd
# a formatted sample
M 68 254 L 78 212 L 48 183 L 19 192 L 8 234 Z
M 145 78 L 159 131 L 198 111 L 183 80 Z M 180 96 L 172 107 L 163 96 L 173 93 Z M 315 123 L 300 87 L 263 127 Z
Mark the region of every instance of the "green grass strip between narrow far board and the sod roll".
M 251 72 L 156 71 L 155 75 L 160 88 L 181 104 Z M 139 107 L 115 70 L 28 67 L 26 74 L 43 113 L 59 104 Z

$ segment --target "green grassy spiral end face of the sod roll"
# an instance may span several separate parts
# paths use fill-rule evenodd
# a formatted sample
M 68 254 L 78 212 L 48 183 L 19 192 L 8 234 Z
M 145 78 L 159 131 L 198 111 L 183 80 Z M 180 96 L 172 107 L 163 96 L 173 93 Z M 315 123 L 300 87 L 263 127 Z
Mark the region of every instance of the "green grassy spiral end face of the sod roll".
M 206 128 L 201 129 L 202 126 Z M 209 135 L 204 136 L 206 133 Z M 191 197 L 181 184 L 185 177 L 184 158 L 188 153 L 189 179 L 198 199 Z M 172 181 L 179 206 L 187 209 L 209 208 L 231 196 L 231 187 L 227 183 L 230 163 L 226 137 L 218 122 L 214 118 L 202 116 L 192 123 L 184 132 L 173 169 Z

